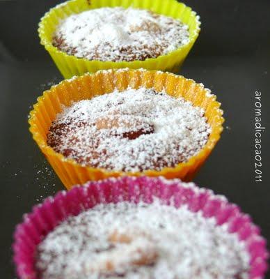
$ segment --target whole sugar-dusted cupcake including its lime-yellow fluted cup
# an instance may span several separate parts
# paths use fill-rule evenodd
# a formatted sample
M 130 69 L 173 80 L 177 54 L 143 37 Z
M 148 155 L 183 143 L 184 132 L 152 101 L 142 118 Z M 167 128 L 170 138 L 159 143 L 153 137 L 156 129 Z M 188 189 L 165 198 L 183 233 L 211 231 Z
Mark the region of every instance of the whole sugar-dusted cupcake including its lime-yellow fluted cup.
M 71 0 L 39 25 L 42 45 L 65 78 L 108 68 L 169 70 L 180 66 L 200 31 L 183 3 Z

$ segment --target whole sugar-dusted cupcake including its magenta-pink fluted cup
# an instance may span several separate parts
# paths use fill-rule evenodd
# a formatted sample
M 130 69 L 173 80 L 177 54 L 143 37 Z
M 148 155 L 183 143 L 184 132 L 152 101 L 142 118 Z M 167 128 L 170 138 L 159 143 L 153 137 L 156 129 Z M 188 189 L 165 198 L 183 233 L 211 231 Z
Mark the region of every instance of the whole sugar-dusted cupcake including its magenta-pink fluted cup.
M 48 198 L 16 228 L 19 278 L 264 278 L 266 241 L 193 183 L 122 177 Z

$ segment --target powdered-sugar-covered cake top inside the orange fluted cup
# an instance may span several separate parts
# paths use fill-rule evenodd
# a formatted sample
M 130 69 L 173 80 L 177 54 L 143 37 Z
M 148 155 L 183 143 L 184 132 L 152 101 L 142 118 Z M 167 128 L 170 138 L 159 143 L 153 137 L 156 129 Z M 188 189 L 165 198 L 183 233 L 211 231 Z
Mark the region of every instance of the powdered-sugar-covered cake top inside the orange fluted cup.
M 65 107 L 51 124 L 47 144 L 81 165 L 138 172 L 189 160 L 210 131 L 200 107 L 142 87 Z

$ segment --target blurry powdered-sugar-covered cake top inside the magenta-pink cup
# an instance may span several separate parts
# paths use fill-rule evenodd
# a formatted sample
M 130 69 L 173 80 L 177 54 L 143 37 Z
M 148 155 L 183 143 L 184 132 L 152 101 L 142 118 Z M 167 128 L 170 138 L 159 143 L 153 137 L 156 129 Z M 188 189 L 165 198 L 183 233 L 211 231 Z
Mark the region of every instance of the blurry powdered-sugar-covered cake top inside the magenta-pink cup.
M 249 255 L 202 212 L 161 204 L 100 204 L 72 216 L 38 245 L 41 279 L 246 279 Z

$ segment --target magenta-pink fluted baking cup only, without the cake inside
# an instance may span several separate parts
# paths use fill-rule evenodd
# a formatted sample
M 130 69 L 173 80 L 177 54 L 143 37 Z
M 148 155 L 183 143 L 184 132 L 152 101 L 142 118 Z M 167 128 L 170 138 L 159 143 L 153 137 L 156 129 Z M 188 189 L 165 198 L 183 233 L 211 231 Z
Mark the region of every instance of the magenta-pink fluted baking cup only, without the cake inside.
M 76 216 L 100 203 L 151 203 L 154 197 L 176 208 L 186 205 L 193 212 L 202 211 L 205 218 L 215 218 L 217 225 L 227 225 L 228 232 L 237 234 L 239 240 L 244 241 L 250 255 L 249 279 L 264 278 L 269 256 L 266 241 L 260 236 L 260 229 L 253 225 L 251 217 L 241 213 L 239 206 L 193 183 L 146 176 L 88 182 L 84 187 L 59 192 L 34 206 L 15 229 L 13 252 L 17 275 L 21 279 L 37 279 L 35 249 L 68 216 Z

